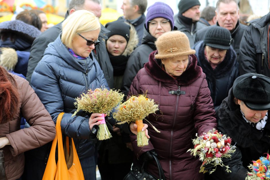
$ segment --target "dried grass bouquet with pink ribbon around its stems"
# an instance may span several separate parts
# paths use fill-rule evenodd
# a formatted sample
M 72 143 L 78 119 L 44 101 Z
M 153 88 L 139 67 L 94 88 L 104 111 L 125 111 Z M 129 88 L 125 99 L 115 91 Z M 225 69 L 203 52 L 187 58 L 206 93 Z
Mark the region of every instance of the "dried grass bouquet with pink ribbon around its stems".
M 120 93 L 119 90 L 107 90 L 106 88 L 97 88 L 94 91 L 89 89 L 87 93 L 82 93 L 80 97 L 77 97 L 74 103 L 77 110 L 72 115 L 76 115 L 80 110 L 87 111 L 89 113 L 100 113 L 102 114 L 103 120 L 99 125 L 99 131 L 97 138 L 99 140 L 106 140 L 111 138 L 111 133 L 106 125 L 104 114 L 111 112 L 124 98 L 124 94 Z

